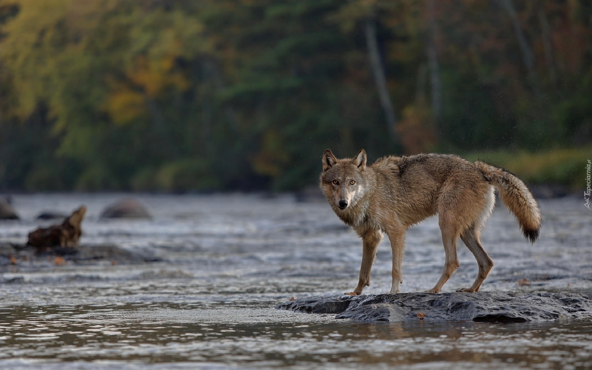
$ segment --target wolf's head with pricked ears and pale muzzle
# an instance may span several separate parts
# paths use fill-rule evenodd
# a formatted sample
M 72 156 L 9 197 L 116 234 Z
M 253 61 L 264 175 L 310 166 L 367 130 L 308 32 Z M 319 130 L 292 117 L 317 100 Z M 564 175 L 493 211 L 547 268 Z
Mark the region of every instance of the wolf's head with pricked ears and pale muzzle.
M 331 150 L 323 153 L 321 190 L 334 210 L 351 208 L 365 193 L 366 152 L 362 149 L 352 158 L 337 159 Z

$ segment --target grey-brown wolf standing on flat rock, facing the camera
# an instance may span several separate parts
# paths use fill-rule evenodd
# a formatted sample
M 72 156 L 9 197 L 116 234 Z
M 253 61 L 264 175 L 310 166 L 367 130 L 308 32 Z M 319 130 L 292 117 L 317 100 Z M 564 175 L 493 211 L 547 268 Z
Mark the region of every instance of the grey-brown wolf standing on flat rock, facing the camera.
M 456 255 L 458 237 L 475 255 L 479 266 L 471 287 L 458 291 L 479 291 L 493 268 L 493 261 L 481 246 L 480 232 L 496 203 L 496 189 L 531 243 L 538 238 L 542 221 L 539 204 L 517 176 L 480 160 L 473 163 L 455 155 L 387 156 L 368 166 L 363 149 L 355 157 L 344 159 L 337 159 L 327 149 L 323 153 L 320 187 L 337 216 L 362 238 L 358 286 L 349 295 L 362 294 L 370 284 L 370 271 L 383 233 L 392 248 L 391 293 L 400 292 L 405 231 L 435 214 L 446 262 L 442 276 L 427 292 L 439 292 L 460 266 Z

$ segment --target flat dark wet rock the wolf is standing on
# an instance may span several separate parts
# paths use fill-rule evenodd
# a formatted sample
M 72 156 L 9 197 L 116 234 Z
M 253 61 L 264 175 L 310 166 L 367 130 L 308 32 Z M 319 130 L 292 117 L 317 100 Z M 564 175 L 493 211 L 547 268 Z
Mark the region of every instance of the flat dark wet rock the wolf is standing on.
M 592 293 L 453 292 L 305 297 L 276 308 L 362 321 L 455 320 L 523 323 L 592 314 Z

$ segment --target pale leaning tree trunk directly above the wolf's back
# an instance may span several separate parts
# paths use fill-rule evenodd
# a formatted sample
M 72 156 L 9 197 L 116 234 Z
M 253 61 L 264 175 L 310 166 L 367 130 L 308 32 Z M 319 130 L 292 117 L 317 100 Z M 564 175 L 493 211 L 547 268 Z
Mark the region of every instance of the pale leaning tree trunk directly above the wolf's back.
M 382 111 L 384 111 L 387 127 L 391 133 L 392 139 L 393 141 L 398 142 L 397 131 L 395 130 L 397 121 L 395 120 L 395 112 L 392 108 L 391 96 L 387 88 L 387 78 L 385 76 L 384 66 L 382 65 L 380 53 L 378 52 L 376 24 L 373 19 L 366 20 L 365 31 L 368 57 L 370 59 L 372 74 L 374 75 L 374 82 L 376 83 L 380 105 L 382 106 Z

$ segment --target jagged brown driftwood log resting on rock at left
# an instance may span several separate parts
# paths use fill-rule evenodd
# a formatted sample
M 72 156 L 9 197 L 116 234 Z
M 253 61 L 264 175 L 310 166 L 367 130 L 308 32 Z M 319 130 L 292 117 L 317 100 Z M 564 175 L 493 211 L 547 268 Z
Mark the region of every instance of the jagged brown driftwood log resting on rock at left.
M 37 247 L 38 250 L 47 250 L 52 247 L 75 247 L 82 235 L 82 220 L 86 213 L 86 207 L 81 206 L 60 225 L 40 227 L 29 233 L 28 245 Z

